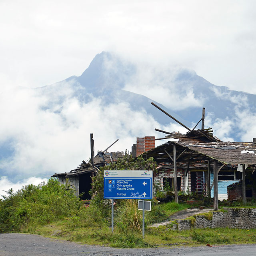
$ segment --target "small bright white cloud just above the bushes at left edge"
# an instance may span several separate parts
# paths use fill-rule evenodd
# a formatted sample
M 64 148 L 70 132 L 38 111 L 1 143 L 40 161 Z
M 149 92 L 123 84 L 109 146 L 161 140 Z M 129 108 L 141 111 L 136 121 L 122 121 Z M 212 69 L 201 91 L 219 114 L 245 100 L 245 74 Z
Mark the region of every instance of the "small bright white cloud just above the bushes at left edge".
M 20 182 L 13 183 L 11 182 L 6 176 L 3 176 L 0 178 L 0 198 L 2 196 L 7 196 L 8 193 L 6 193 L 8 190 L 12 188 L 13 192 L 17 192 L 19 189 L 22 188 L 22 186 L 26 186 L 28 184 L 33 184 L 37 186 L 38 184 L 42 182 L 47 182 L 47 179 L 37 178 L 37 177 L 30 177 L 25 180 L 21 180 Z

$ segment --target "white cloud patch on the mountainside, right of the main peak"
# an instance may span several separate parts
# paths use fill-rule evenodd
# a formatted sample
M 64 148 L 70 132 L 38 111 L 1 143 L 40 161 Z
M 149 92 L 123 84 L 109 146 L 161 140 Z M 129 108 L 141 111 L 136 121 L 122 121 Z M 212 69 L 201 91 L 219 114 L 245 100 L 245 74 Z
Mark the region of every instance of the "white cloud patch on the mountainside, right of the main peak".
M 176 81 L 182 71 L 184 70 L 177 66 L 166 68 L 164 65 L 156 66 L 137 62 L 136 74 L 125 85 L 124 90 L 142 94 L 174 111 L 191 106 L 201 107 L 204 100 L 200 95 L 195 97 L 193 87 L 189 84 L 181 86 Z

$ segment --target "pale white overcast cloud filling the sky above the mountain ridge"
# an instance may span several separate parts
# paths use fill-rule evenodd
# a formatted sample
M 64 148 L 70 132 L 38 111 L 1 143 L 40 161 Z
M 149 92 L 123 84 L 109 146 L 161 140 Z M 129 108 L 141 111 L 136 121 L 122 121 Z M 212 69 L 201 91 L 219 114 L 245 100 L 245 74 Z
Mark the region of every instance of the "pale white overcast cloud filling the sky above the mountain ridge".
M 0 70 L 12 84 L 42 86 L 82 74 L 105 50 L 184 65 L 255 93 L 255 7 L 252 0 L 3 0 Z

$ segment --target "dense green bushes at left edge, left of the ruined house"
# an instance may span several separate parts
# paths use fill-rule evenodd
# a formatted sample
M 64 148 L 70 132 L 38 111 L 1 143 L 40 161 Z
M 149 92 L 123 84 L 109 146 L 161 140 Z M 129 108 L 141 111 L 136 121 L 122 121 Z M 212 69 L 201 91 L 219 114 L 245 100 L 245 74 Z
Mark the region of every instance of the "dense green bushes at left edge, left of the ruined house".
M 15 193 L 10 189 L 0 200 L 0 232 L 24 231 L 29 225 L 69 217 L 81 206 L 74 190 L 60 185 L 56 178 L 24 186 Z

